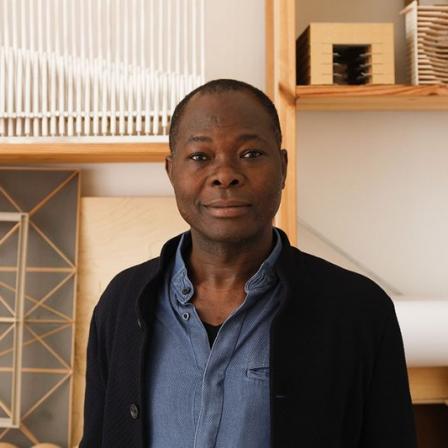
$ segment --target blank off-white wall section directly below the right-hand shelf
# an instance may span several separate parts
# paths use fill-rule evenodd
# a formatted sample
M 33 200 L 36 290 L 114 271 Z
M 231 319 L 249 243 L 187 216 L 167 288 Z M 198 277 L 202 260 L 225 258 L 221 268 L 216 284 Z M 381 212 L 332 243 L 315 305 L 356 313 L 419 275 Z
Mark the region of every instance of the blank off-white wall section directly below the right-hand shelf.
M 448 113 L 304 112 L 297 135 L 300 218 L 395 293 L 448 296 Z

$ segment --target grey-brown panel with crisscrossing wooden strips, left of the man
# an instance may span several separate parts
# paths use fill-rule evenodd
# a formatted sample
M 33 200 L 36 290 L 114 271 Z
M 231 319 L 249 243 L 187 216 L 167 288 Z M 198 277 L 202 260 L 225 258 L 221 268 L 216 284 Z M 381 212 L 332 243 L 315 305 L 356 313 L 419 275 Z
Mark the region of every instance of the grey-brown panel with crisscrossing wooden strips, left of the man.
M 79 187 L 74 170 L 0 169 L 0 442 L 70 446 Z

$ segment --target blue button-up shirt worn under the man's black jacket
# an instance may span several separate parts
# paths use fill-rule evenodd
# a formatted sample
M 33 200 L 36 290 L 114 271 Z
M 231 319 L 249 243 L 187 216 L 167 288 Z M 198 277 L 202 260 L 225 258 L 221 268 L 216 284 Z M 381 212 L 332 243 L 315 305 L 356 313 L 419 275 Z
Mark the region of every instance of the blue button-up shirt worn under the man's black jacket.
M 182 235 L 155 311 L 148 359 L 151 448 L 267 448 L 270 443 L 269 331 L 281 284 L 275 245 L 246 282 L 244 302 L 223 322 L 210 348 L 191 298 Z

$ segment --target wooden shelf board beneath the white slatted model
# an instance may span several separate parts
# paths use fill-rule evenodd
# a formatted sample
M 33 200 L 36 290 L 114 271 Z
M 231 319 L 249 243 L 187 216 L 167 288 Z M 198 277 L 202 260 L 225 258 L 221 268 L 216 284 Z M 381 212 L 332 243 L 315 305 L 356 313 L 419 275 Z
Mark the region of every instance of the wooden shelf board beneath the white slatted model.
M 167 143 L 0 143 L 0 163 L 163 162 Z

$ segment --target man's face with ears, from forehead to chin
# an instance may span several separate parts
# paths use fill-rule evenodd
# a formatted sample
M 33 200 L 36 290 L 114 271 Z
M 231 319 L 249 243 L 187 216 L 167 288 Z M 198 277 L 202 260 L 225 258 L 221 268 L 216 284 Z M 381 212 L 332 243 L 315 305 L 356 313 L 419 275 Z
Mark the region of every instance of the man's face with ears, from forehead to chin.
M 165 167 L 192 232 L 235 243 L 272 228 L 287 154 L 279 150 L 270 116 L 252 94 L 194 96 Z

